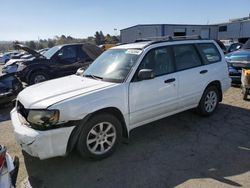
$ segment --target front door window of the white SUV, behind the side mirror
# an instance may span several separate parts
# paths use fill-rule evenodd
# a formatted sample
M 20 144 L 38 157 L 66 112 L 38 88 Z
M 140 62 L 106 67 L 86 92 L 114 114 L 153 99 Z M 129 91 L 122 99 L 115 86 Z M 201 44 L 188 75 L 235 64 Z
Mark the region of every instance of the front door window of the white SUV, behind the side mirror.
M 164 47 L 149 51 L 140 64 L 139 70 L 141 69 L 152 69 L 155 76 L 174 72 L 169 49 Z

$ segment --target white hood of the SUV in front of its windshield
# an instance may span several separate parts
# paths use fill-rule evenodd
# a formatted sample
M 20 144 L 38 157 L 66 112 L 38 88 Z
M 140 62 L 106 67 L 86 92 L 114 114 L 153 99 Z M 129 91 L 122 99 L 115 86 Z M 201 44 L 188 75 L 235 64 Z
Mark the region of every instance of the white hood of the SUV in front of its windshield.
M 60 101 L 114 85 L 117 83 L 71 75 L 27 87 L 19 93 L 17 100 L 27 109 L 45 109 Z

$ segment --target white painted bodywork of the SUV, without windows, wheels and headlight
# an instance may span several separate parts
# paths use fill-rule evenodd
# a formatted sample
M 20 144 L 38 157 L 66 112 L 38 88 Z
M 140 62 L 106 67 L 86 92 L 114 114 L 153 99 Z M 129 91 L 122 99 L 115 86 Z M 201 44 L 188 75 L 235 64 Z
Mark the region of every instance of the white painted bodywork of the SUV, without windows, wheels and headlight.
M 220 63 L 175 72 L 151 80 L 131 82 L 144 55 L 151 49 L 173 44 L 214 43 L 222 57 Z M 175 41 L 147 46 L 148 42 L 127 44 L 113 49 L 138 49 L 142 54 L 124 83 L 67 76 L 24 89 L 17 97 L 27 109 L 57 109 L 59 124 L 81 120 L 100 109 L 114 107 L 122 113 L 128 132 L 135 127 L 163 117 L 197 107 L 206 86 L 219 80 L 223 92 L 230 87 L 227 64 L 218 45 L 210 40 Z M 146 47 L 147 46 L 147 47 Z M 200 71 L 208 70 L 201 75 Z M 175 82 L 164 84 L 164 80 Z M 15 136 L 22 149 L 30 155 L 46 159 L 66 154 L 70 134 L 75 126 L 49 131 L 37 131 L 25 125 L 16 108 L 11 112 Z

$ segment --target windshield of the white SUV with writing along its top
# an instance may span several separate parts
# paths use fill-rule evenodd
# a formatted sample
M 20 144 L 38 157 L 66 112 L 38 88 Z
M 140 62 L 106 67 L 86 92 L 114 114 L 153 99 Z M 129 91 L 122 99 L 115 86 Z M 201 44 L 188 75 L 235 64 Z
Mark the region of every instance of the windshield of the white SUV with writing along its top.
M 141 52 L 137 49 L 110 49 L 99 56 L 83 76 L 121 83 L 128 76 Z

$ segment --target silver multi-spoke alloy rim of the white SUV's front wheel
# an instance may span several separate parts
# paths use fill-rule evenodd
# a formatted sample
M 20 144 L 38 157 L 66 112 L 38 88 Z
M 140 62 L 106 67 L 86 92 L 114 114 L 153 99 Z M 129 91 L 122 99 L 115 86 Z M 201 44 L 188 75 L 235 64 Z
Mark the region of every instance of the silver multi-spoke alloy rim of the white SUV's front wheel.
M 101 155 L 109 151 L 116 140 L 116 129 L 109 122 L 95 125 L 87 136 L 87 147 L 93 154 Z

